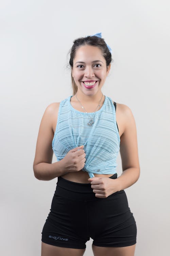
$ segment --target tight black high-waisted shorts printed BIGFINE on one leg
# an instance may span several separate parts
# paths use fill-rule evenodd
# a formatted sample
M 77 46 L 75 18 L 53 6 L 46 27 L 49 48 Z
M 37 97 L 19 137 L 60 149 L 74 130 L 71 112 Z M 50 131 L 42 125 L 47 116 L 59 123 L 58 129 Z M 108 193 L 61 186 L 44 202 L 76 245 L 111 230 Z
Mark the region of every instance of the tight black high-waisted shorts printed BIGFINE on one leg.
M 117 173 L 109 177 L 117 178 Z M 58 177 L 50 213 L 41 241 L 47 244 L 86 248 L 86 242 L 103 247 L 136 243 L 137 227 L 125 191 L 106 198 L 95 196 L 90 183 L 77 183 Z

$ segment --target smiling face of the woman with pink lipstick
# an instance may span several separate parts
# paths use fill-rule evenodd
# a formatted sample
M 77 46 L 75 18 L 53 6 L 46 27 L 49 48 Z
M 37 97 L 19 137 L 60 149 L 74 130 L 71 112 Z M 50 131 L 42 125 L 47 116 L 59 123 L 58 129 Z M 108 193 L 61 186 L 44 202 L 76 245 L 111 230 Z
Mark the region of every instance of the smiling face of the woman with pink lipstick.
M 72 77 L 78 86 L 78 94 L 95 95 L 101 93 L 111 64 L 106 67 L 106 60 L 100 48 L 83 45 L 77 49 L 71 69 Z

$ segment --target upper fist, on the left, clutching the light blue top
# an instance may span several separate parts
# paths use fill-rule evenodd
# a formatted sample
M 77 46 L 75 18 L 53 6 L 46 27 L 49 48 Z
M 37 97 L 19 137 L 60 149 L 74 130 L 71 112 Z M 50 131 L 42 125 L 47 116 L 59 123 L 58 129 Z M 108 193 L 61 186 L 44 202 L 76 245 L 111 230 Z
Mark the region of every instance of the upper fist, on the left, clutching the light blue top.
M 78 172 L 85 166 L 84 145 L 71 149 L 61 160 L 65 172 Z

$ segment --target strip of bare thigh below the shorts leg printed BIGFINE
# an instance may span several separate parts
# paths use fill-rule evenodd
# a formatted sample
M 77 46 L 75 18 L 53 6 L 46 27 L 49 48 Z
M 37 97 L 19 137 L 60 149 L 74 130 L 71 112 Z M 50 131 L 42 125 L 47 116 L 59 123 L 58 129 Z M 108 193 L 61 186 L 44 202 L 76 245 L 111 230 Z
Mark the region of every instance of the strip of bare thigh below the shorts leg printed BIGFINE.
M 85 250 L 65 248 L 41 242 L 41 256 L 83 256 Z

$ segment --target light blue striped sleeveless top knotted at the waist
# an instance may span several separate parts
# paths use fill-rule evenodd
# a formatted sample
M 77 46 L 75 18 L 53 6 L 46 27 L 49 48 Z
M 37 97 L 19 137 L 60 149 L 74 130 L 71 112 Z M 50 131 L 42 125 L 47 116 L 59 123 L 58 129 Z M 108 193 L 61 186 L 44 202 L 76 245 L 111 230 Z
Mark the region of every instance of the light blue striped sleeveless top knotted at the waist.
M 89 173 L 115 174 L 117 156 L 120 150 L 120 136 L 116 123 L 115 106 L 111 98 L 105 96 L 100 110 L 91 113 L 75 110 L 70 103 L 72 96 L 62 100 L 58 109 L 58 118 L 52 149 L 58 161 L 73 148 L 84 145 L 85 166 Z M 91 116 L 92 126 L 87 123 Z

